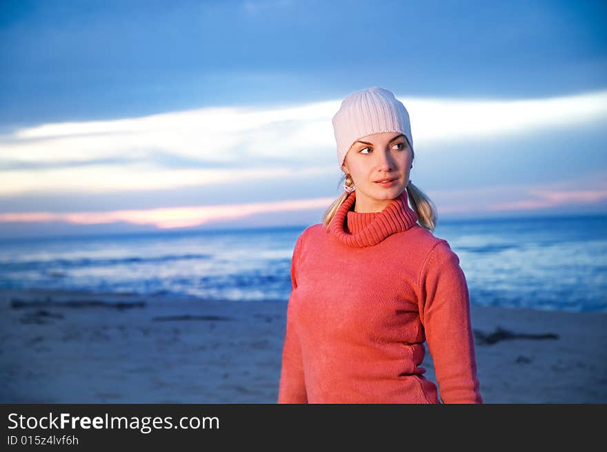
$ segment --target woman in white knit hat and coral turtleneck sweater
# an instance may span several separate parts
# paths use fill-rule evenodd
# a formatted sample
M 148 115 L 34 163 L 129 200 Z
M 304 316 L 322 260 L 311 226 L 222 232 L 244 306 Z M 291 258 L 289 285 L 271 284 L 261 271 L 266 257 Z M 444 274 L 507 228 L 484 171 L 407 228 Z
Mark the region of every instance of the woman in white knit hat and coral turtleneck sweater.
M 295 244 L 278 402 L 482 403 L 466 278 L 410 181 L 406 108 L 368 88 L 332 124 L 344 194 Z

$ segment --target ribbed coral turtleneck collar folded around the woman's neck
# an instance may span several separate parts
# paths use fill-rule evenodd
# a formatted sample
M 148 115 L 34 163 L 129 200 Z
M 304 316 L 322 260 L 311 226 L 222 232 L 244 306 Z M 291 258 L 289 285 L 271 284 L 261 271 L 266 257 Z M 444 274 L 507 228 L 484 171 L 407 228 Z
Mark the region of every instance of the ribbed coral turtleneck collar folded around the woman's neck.
M 384 238 L 406 231 L 417 223 L 417 213 L 407 203 L 406 189 L 381 212 L 354 212 L 355 201 L 356 191 L 341 203 L 329 227 L 331 234 L 350 247 L 377 245 Z

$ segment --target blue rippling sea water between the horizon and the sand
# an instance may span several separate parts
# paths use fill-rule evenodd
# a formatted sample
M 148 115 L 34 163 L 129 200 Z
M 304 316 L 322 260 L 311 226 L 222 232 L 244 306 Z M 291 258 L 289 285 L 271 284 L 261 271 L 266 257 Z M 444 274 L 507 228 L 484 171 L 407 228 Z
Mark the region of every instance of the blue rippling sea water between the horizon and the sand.
M 305 226 L 0 240 L 0 287 L 286 301 Z M 607 312 L 607 216 L 441 220 L 476 305 Z

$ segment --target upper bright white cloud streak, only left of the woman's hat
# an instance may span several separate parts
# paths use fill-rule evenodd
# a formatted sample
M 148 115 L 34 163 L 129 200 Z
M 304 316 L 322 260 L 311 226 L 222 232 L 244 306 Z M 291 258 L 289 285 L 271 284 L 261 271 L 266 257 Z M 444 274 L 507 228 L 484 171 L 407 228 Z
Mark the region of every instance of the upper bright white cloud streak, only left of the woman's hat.
M 44 124 L 0 136 L 0 159 L 57 163 L 128 154 L 143 160 L 162 150 L 247 167 L 255 161 L 244 157 L 266 159 L 258 165 L 271 158 L 297 162 L 307 158 L 297 151 L 314 152 L 317 145 L 328 144 L 334 107 L 335 102 L 274 109 L 209 107 L 135 119 Z

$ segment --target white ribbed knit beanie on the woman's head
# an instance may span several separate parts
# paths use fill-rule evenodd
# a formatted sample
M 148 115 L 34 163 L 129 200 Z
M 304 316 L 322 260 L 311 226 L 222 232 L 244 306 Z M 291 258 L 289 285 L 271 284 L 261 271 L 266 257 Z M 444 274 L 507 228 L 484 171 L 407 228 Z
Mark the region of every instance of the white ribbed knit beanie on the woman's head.
M 355 91 L 341 102 L 339 111 L 332 119 L 339 167 L 344 164 L 346 153 L 362 136 L 381 132 L 405 134 L 411 149 L 411 124 L 405 106 L 390 90 L 374 86 Z

